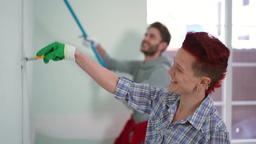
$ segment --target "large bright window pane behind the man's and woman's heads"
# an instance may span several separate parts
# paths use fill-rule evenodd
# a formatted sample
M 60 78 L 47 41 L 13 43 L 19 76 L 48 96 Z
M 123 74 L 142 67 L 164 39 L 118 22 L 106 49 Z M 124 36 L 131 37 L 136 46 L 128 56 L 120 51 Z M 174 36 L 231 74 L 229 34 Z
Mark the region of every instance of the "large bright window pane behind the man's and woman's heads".
M 169 49 L 180 48 L 188 31 L 205 31 L 223 41 L 224 4 L 224 0 L 147 0 L 147 23 L 167 26 L 172 36 Z

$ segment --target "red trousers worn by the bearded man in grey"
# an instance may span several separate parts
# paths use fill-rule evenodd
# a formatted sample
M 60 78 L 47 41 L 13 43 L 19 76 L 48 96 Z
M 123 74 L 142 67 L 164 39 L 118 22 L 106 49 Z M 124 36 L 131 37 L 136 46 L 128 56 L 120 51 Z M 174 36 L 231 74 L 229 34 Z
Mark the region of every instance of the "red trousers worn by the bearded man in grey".
M 135 124 L 131 116 L 131 119 L 127 121 L 125 128 L 123 129 L 119 137 L 115 139 L 114 144 L 129 144 L 130 134 L 132 134 L 131 144 L 140 144 L 141 142 L 143 142 L 144 144 L 147 125 L 148 125 L 148 121 Z

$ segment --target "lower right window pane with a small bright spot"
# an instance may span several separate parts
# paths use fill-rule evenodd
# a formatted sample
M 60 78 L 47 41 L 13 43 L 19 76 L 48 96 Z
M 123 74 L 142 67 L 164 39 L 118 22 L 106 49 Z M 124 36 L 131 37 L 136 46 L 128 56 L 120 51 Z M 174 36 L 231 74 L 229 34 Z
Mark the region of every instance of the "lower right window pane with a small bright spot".
M 256 105 L 232 108 L 232 139 L 255 139 Z

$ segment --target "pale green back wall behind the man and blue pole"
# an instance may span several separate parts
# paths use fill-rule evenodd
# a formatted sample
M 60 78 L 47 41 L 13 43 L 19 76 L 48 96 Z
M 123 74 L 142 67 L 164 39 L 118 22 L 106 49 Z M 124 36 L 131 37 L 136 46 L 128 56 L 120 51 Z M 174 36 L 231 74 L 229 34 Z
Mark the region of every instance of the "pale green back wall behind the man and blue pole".
M 140 44 L 146 23 L 146 0 L 69 0 L 88 35 L 117 59 L 143 59 Z M 81 31 L 64 1 L 35 0 L 34 53 L 59 41 L 82 46 Z M 33 114 L 36 144 L 107 144 L 130 118 L 124 104 L 100 88 L 75 62 L 33 62 Z M 117 73 L 119 76 L 123 74 Z M 127 76 L 128 75 L 124 75 Z

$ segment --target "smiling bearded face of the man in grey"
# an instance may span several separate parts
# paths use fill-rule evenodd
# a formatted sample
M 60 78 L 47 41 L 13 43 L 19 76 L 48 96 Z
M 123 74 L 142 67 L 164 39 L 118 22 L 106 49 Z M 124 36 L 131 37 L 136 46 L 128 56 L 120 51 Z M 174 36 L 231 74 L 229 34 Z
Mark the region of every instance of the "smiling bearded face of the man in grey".
M 146 56 L 153 56 L 158 51 L 161 41 L 159 30 L 154 27 L 149 28 L 141 43 L 141 52 Z

